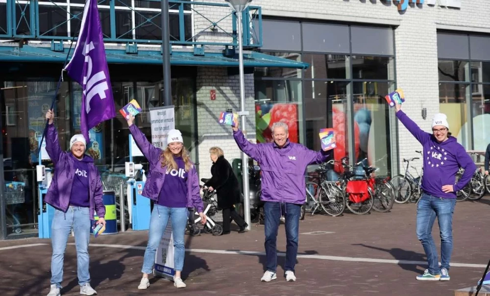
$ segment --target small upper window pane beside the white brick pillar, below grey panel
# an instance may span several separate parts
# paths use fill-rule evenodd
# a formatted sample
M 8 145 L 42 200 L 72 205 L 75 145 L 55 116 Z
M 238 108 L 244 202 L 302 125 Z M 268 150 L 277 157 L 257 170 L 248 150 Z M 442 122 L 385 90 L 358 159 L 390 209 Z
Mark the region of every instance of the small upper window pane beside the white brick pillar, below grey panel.
M 354 79 L 394 79 L 392 57 L 353 55 L 350 57 L 350 63 Z

